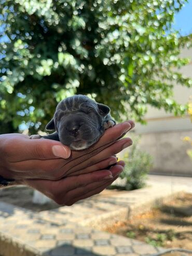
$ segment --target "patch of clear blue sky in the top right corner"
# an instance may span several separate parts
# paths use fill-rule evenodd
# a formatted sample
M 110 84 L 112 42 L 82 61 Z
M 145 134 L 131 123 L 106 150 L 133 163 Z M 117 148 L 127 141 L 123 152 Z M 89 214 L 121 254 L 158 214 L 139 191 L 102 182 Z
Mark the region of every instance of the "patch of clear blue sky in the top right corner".
M 192 34 L 192 0 L 189 0 L 181 11 L 175 15 L 173 28 L 179 30 L 183 36 Z

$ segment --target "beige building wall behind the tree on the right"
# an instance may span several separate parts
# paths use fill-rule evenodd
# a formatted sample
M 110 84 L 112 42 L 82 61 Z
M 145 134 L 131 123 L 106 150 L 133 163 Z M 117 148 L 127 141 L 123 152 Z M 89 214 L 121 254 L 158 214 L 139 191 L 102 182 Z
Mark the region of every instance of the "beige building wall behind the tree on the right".
M 181 57 L 190 58 L 191 62 L 180 70 L 192 78 L 192 49 L 183 49 Z M 174 99 L 182 104 L 189 101 L 192 88 L 179 85 L 174 87 Z M 153 173 L 192 176 L 192 159 L 186 154 L 191 148 L 182 138 L 192 138 L 192 123 L 189 116 L 175 117 L 163 110 L 148 107 L 145 116 L 147 125 L 136 124 L 135 133 L 141 134 L 141 148 L 154 158 Z

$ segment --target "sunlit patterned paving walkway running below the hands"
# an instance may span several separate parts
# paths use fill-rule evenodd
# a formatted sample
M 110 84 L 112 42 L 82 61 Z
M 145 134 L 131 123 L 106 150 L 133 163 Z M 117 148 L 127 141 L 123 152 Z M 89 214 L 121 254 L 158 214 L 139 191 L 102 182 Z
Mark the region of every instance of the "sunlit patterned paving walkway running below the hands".
M 189 191 L 190 182 L 192 178 L 150 176 L 141 190 L 105 190 L 71 207 L 40 213 L 0 201 L 0 255 L 152 255 L 162 249 L 102 229 L 145 211 L 155 200 Z

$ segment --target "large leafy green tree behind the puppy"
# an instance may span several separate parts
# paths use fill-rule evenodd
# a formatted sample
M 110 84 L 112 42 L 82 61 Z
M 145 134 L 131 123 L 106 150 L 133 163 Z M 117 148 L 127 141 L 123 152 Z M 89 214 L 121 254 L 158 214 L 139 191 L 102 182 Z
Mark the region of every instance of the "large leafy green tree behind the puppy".
M 57 102 L 89 94 L 117 119 L 142 122 L 147 104 L 175 115 L 172 99 L 191 37 L 172 31 L 182 0 L 0 0 L 0 122 L 16 131 L 25 122 L 43 130 Z M 7 128 L 8 129 L 8 128 Z

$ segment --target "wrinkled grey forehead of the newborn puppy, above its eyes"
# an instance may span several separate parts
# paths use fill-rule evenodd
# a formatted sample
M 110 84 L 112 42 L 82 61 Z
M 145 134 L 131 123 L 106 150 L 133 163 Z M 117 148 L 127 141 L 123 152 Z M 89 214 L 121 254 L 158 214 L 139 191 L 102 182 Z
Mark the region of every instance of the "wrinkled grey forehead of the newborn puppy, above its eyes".
M 80 110 L 89 110 L 92 109 L 97 111 L 97 103 L 91 99 L 89 99 L 85 95 L 75 95 L 73 97 L 68 97 L 62 100 L 58 106 L 56 111 L 62 111 L 63 114 L 71 113 L 73 111 Z

